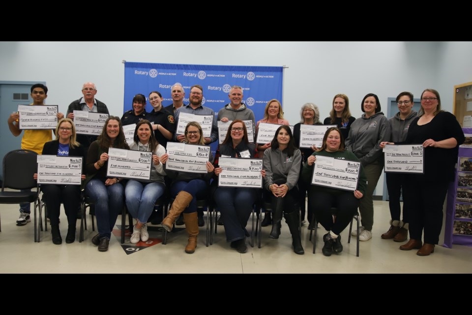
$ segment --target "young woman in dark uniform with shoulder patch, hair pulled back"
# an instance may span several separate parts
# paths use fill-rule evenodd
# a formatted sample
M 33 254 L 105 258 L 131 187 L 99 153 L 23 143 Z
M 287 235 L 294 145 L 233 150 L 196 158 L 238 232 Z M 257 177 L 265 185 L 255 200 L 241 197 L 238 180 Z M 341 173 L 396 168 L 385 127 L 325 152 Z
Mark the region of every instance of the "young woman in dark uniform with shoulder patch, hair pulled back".
M 167 147 L 167 141 L 172 140 L 176 131 L 174 115 L 162 107 L 162 95 L 159 92 L 152 91 L 149 93 L 148 99 L 154 110 L 148 113 L 146 119 L 154 123 L 152 129 L 154 130 L 157 142 L 165 148 Z

